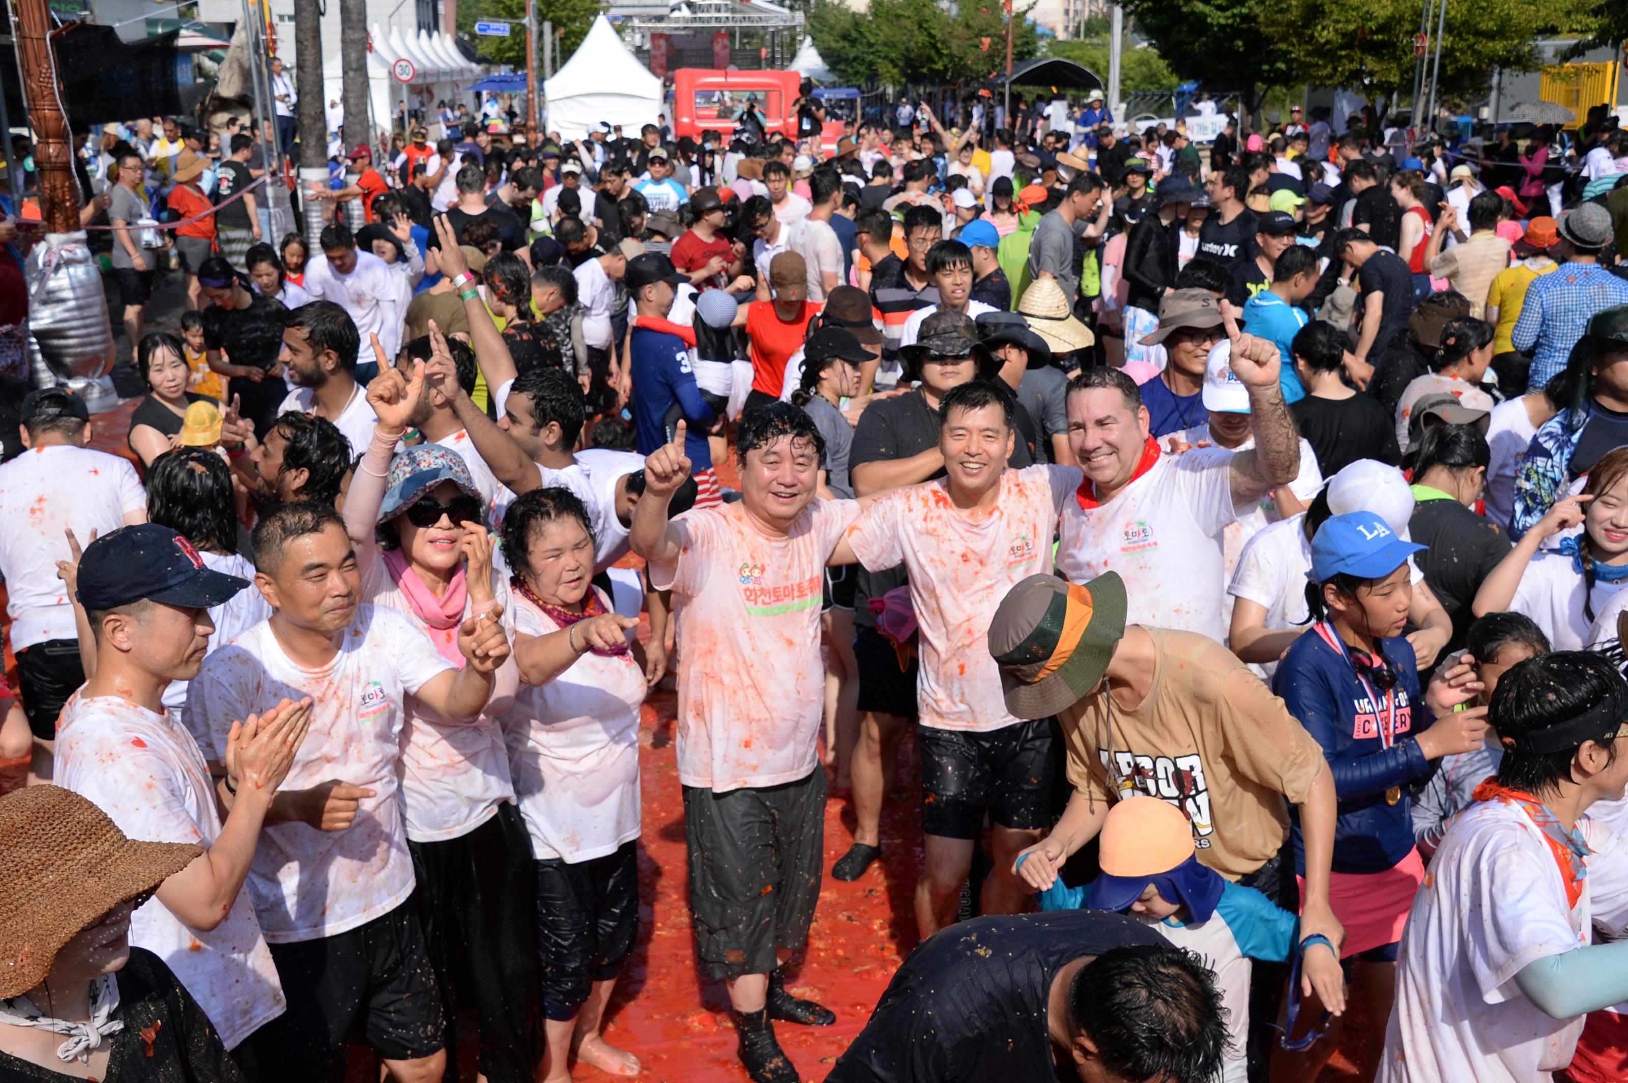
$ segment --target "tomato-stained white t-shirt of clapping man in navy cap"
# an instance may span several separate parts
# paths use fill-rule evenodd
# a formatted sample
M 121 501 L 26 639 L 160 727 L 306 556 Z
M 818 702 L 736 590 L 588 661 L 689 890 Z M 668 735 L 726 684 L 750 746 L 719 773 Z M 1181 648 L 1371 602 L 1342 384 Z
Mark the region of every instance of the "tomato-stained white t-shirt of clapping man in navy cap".
M 75 694 L 68 700 L 57 723 L 54 780 L 138 842 L 207 848 L 220 837 L 215 785 L 197 741 L 168 713 L 127 699 Z M 288 1006 L 247 891 L 208 932 L 182 925 L 163 902 L 148 899 L 130 917 L 130 943 L 176 972 L 226 1049 Z

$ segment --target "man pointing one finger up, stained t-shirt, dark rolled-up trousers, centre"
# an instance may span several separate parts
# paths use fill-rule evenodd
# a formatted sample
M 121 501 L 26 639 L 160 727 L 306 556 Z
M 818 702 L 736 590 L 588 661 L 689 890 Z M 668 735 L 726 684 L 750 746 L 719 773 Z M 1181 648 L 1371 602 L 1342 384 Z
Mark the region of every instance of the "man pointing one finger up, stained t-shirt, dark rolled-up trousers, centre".
M 824 440 L 773 402 L 742 419 L 742 500 L 667 520 L 690 474 L 685 422 L 645 459 L 632 546 L 651 586 L 671 590 L 685 664 L 677 756 L 698 962 L 729 990 L 751 1078 L 798 1078 L 773 1019 L 837 1016 L 785 989 L 780 967 L 807 943 L 819 899 L 825 774 L 821 596 L 825 565 L 858 503 L 816 500 Z

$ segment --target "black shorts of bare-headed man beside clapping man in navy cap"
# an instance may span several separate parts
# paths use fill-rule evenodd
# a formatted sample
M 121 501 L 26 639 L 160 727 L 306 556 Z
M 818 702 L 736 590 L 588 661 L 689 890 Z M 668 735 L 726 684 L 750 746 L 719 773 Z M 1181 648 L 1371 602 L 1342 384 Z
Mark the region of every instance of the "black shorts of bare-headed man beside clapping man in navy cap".
M 446 1046 L 412 901 L 348 932 L 270 948 L 288 1011 L 249 1037 L 267 1080 L 337 1083 L 352 1039 L 386 1060 L 417 1060 Z

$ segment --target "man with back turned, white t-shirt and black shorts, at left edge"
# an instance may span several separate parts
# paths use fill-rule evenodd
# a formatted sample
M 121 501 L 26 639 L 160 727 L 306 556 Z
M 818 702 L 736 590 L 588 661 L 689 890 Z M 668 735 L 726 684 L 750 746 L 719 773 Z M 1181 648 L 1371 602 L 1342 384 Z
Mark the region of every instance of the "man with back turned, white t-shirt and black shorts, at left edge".
M 34 731 L 34 774 L 50 778 L 57 712 L 85 682 L 73 603 L 57 578 L 81 542 L 147 521 L 147 492 L 129 459 L 91 451 L 91 415 L 65 386 L 23 399 L 28 451 L 0 466 L 0 575 L 5 577 L 18 694 Z

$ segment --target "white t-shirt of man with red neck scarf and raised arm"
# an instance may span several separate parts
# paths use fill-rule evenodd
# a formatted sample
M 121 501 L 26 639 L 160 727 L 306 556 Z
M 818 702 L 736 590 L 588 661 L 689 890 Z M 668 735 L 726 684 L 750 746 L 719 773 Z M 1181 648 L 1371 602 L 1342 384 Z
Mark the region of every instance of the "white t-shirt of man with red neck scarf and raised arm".
M 1063 505 L 1057 567 L 1071 583 L 1118 572 L 1127 624 L 1151 624 L 1226 642 L 1221 533 L 1237 520 L 1232 453 L 1161 454 L 1107 503 Z

